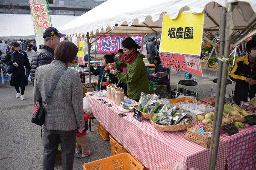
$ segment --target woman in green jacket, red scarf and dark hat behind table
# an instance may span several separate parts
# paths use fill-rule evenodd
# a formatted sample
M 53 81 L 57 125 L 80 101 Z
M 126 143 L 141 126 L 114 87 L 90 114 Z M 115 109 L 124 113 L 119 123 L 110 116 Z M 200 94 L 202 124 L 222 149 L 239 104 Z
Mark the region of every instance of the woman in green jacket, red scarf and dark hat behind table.
M 147 79 L 147 68 L 144 64 L 143 54 L 137 51 L 137 48 L 141 46 L 137 45 L 136 42 L 128 37 L 122 42 L 124 49 L 125 58 L 120 62 L 109 63 L 113 69 L 110 73 L 114 74 L 121 82 L 127 84 L 127 94 L 130 99 L 139 101 L 141 92 L 148 93 L 148 79 Z M 114 68 L 126 67 L 127 73 L 116 71 Z

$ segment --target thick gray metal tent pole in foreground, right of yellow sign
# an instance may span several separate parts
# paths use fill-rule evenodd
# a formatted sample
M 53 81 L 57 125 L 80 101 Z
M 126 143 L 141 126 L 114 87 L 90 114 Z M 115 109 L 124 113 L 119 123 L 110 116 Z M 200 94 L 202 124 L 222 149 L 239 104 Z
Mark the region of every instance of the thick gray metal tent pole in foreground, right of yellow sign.
M 227 86 L 227 74 L 228 74 L 228 64 L 229 64 L 229 54 L 230 54 L 230 39 L 232 32 L 234 31 L 233 25 L 233 3 L 228 3 L 227 8 L 227 16 L 226 16 L 226 28 L 225 28 L 225 39 L 224 39 L 224 56 L 218 57 L 220 63 L 222 63 L 221 70 L 219 70 L 218 74 L 218 94 L 217 94 L 217 105 L 215 107 L 215 123 L 213 124 L 212 136 L 213 140 L 211 141 L 211 159 L 209 164 L 209 170 L 215 170 L 217 155 L 218 155 L 218 147 L 220 140 L 220 130 L 221 130 L 221 122 L 223 116 L 223 108 L 224 108 L 224 100 L 226 94 L 226 86 Z M 217 86 L 218 86 L 217 85 Z M 213 142 L 213 144 L 212 144 Z

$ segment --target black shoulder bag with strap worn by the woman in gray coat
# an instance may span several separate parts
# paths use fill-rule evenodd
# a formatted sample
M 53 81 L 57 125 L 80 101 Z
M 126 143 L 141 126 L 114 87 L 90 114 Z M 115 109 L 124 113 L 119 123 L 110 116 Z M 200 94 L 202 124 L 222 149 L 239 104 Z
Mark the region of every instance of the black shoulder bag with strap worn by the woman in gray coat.
M 45 116 L 44 105 L 48 104 L 48 102 L 50 100 L 50 97 L 52 96 L 53 91 L 54 91 L 57 83 L 59 82 L 59 78 L 62 76 L 63 72 L 66 71 L 67 69 L 68 68 L 63 68 L 57 74 L 57 76 L 56 76 L 56 78 L 55 78 L 55 80 L 54 80 L 54 82 L 52 84 L 52 87 L 51 87 L 49 93 L 46 94 L 46 99 L 43 102 L 44 104 L 42 104 L 41 101 L 36 101 L 35 102 L 35 108 L 34 108 L 32 120 L 31 120 L 32 123 L 35 123 L 36 125 L 39 125 L 39 126 L 42 126 L 44 124 L 44 116 Z

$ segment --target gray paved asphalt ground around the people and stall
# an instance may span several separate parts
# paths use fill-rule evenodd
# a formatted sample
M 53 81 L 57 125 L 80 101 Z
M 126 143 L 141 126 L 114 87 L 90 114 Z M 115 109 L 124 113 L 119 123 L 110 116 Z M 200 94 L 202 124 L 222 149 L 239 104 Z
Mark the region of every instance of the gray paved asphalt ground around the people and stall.
M 97 79 L 97 77 L 94 77 Z M 177 82 L 184 78 L 184 72 L 176 74 L 171 71 L 171 88 L 177 87 Z M 194 77 L 198 80 L 198 99 L 208 97 L 215 77 Z M 191 88 L 191 90 L 194 90 Z M 0 87 L 0 170 L 41 170 L 43 146 L 40 127 L 32 124 L 33 86 L 26 86 L 26 100 L 15 98 L 14 87 L 6 82 Z M 92 155 L 74 158 L 74 170 L 82 170 L 82 164 L 110 156 L 109 141 L 104 141 L 97 134 L 97 121 L 94 119 L 92 131 L 88 132 L 88 147 Z M 56 166 L 55 170 L 61 170 Z

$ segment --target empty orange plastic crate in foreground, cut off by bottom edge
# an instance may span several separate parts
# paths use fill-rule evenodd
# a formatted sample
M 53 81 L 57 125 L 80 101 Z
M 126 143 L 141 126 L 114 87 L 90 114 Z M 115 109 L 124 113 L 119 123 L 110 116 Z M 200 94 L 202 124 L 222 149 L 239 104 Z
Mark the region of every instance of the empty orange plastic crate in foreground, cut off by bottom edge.
M 129 153 L 120 153 L 108 158 L 82 165 L 84 170 L 143 170 L 143 166 Z

